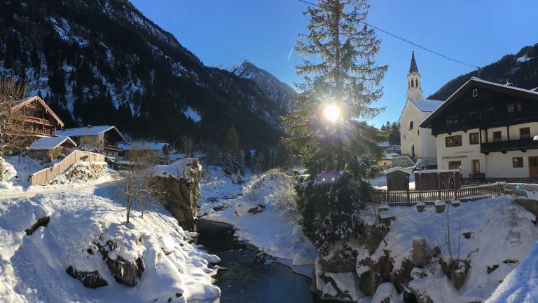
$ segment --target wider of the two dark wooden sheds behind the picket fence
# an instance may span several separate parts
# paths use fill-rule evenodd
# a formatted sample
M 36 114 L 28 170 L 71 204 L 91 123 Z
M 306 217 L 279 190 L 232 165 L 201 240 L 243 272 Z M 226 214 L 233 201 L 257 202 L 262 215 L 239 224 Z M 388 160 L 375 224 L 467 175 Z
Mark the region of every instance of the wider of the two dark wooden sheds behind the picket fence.
M 415 189 L 417 190 L 427 191 L 460 188 L 460 170 L 415 171 Z

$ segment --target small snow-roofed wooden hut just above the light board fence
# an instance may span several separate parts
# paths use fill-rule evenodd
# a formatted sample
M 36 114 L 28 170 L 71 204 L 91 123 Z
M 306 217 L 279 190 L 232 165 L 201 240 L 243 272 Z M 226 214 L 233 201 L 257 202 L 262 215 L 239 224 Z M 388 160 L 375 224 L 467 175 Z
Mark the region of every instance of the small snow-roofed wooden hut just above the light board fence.
M 67 156 L 74 147 L 76 147 L 76 144 L 69 137 L 40 137 L 30 145 L 27 156 L 50 162 L 57 159 L 58 156 Z

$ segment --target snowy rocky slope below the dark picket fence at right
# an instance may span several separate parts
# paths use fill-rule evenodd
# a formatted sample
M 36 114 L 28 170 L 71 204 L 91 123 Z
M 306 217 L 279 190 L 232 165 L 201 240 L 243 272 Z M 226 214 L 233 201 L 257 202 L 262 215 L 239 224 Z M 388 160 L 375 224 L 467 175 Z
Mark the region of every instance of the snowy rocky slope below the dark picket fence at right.
M 452 253 L 470 261 L 463 288 L 455 290 L 439 266 L 421 269 L 420 276 L 423 277 L 415 278 L 409 286 L 426 293 L 434 302 L 483 302 L 538 241 L 538 228 L 533 223 L 536 217 L 513 203 L 510 196 L 448 208 Z M 429 247 L 441 248 L 441 255 L 448 255 L 446 212 L 436 213 L 435 206 L 426 206 L 424 213 L 414 207 L 391 207 L 383 212 L 390 212 L 396 220 L 385 236 L 386 245 L 378 247 L 372 260 L 378 260 L 385 255 L 385 250 L 389 250 L 394 258 L 393 271 L 397 271 L 403 260 L 410 258 L 412 239 L 416 237 L 425 239 Z M 367 220 L 375 220 L 373 212 L 368 215 L 366 211 L 364 215 Z M 464 232 L 469 232 L 470 238 L 464 238 Z M 492 269 L 490 273 L 488 267 Z

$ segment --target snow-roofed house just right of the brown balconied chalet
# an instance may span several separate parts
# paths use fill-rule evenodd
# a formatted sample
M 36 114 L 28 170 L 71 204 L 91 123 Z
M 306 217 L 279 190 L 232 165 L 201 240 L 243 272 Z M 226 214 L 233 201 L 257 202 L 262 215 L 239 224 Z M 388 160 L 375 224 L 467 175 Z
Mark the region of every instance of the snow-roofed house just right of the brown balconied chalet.
M 125 137 L 116 126 L 68 128 L 57 130 L 57 135 L 70 137 L 81 149 L 97 149 L 100 154 L 111 158 L 120 155 L 121 149 L 116 144 L 125 141 Z

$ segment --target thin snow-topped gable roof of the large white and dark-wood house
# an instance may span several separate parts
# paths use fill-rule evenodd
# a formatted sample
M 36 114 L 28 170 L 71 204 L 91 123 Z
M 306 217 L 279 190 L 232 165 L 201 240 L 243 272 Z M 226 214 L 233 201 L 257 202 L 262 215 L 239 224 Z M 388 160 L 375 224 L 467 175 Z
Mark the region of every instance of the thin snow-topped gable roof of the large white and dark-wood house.
M 478 87 L 478 88 L 487 88 L 490 90 L 497 91 L 499 93 L 508 93 L 510 95 L 515 95 L 518 97 L 527 97 L 534 100 L 538 100 L 538 92 L 534 90 L 527 90 L 525 88 L 518 88 L 516 86 L 506 85 L 506 84 L 499 84 L 495 82 L 485 81 L 480 78 L 471 77 L 469 81 L 465 82 L 464 85 L 462 85 L 460 88 L 458 88 L 450 97 L 446 99 L 445 102 L 441 104 L 441 106 L 437 107 L 434 112 L 432 112 L 431 115 L 429 115 L 422 123 L 420 123 L 420 127 L 422 128 L 429 128 L 431 126 L 432 121 L 443 112 L 444 109 L 448 108 L 450 104 L 452 104 L 455 100 L 460 97 L 467 88 L 470 86 Z

